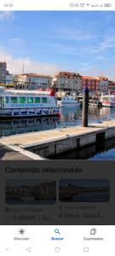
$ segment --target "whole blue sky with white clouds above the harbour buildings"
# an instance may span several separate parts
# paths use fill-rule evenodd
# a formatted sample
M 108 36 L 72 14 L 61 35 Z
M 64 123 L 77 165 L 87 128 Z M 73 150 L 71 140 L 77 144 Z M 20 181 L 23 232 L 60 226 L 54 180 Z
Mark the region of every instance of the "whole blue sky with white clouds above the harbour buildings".
M 114 11 L 0 12 L 0 61 L 10 73 L 76 72 L 115 80 Z

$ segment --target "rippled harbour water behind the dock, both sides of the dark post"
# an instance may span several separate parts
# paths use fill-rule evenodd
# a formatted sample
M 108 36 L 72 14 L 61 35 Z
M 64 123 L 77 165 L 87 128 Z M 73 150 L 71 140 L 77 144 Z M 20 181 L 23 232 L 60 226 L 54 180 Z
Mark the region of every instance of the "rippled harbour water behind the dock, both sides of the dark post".
M 89 123 L 115 118 L 115 108 L 89 108 Z M 62 125 L 81 125 L 81 108 L 62 108 L 60 118 L 9 119 L 0 121 L 0 136 L 60 128 Z

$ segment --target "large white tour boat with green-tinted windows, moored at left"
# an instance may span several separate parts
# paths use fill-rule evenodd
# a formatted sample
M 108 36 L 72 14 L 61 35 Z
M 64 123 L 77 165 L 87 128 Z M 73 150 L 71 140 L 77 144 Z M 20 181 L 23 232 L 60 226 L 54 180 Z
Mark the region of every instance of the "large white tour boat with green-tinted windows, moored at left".
M 0 87 L 0 118 L 60 115 L 54 90 L 6 90 Z

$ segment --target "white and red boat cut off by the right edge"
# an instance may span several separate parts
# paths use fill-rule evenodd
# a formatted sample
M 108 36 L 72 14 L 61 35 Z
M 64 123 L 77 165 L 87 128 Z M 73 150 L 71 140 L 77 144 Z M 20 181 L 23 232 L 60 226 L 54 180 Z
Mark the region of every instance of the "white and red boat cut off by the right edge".
M 115 107 L 115 95 L 112 95 L 112 94 L 102 95 L 101 103 L 103 107 L 109 107 L 109 108 Z

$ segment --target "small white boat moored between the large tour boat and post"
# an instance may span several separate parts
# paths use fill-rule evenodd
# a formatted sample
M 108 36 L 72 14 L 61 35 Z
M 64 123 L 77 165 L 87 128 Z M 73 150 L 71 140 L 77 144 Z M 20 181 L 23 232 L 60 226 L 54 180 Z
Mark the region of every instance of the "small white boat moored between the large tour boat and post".
M 78 102 L 78 100 L 74 96 L 63 96 L 61 98 L 61 101 L 57 102 L 59 107 L 80 107 L 81 102 Z

